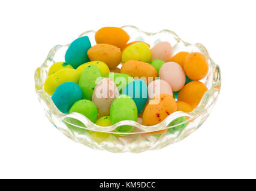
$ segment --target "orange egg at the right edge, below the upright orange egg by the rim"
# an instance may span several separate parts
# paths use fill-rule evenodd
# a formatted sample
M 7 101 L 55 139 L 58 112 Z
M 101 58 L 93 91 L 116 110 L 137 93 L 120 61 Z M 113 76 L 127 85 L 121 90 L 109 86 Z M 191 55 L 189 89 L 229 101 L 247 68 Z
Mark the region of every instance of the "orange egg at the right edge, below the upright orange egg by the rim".
M 178 101 L 185 101 L 193 108 L 197 107 L 201 98 L 207 91 L 205 84 L 199 81 L 192 81 L 186 84 L 180 91 L 177 97 Z

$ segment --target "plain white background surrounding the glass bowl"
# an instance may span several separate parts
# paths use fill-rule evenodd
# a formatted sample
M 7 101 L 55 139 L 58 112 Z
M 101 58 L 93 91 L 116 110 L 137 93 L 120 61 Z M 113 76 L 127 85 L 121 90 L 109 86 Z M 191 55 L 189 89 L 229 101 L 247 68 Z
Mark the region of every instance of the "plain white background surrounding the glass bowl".
M 0 178 L 256 178 L 255 1 L 1 1 Z M 221 66 L 207 121 L 140 154 L 92 150 L 44 116 L 34 71 L 86 30 L 132 24 L 201 42 Z

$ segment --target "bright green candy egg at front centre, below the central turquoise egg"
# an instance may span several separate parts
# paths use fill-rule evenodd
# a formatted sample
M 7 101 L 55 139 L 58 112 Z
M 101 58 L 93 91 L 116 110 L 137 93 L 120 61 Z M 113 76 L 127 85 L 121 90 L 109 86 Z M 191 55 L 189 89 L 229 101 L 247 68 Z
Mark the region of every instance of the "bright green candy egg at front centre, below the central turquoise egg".
M 137 121 L 138 110 L 135 102 L 127 95 L 121 95 L 117 97 L 110 108 L 110 119 L 112 124 L 116 124 L 119 121 L 132 120 Z M 131 132 L 134 127 L 129 125 L 122 125 L 116 128 L 116 132 L 125 133 Z

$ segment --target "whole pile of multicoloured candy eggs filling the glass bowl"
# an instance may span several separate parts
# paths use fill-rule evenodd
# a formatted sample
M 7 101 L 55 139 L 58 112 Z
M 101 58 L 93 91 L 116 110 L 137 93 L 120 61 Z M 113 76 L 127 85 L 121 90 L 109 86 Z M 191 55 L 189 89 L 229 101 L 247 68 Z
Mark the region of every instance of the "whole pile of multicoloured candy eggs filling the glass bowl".
M 152 126 L 173 112 L 191 112 L 207 91 L 200 80 L 209 66 L 201 53 L 173 55 L 169 42 L 128 43 L 118 27 L 101 28 L 95 41 L 91 47 L 88 36 L 77 38 L 64 62 L 49 69 L 44 91 L 62 113 L 81 113 L 103 127 L 124 120 Z M 133 130 L 125 125 L 115 131 Z

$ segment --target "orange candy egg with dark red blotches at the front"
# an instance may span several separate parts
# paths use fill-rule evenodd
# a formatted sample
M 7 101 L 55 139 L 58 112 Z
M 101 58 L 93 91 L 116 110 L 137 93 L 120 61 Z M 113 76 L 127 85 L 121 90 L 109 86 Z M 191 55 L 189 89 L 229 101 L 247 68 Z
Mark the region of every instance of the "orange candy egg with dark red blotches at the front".
M 176 112 L 177 104 L 169 94 L 160 94 L 149 101 L 143 112 L 143 125 L 151 126 L 159 124 L 168 115 Z

